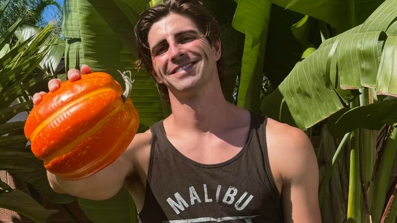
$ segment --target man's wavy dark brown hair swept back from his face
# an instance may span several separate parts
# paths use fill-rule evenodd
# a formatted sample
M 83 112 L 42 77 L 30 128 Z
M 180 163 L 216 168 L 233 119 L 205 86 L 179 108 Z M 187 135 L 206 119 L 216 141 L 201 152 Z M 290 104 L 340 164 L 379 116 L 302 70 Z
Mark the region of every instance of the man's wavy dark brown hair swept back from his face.
M 156 5 L 141 14 L 135 26 L 135 35 L 138 49 L 138 60 L 135 62 L 139 69 L 144 67 L 145 70 L 152 74 L 153 64 L 152 55 L 148 43 L 148 34 L 150 28 L 155 22 L 166 17 L 170 13 L 186 15 L 193 20 L 198 29 L 205 34 L 208 42 L 212 45 L 219 40 L 219 26 L 218 22 L 198 0 L 168 0 L 164 4 Z M 222 63 L 219 59 L 216 63 L 219 79 L 222 82 L 224 75 L 222 73 Z M 164 84 L 158 84 L 159 91 L 168 101 L 168 89 Z

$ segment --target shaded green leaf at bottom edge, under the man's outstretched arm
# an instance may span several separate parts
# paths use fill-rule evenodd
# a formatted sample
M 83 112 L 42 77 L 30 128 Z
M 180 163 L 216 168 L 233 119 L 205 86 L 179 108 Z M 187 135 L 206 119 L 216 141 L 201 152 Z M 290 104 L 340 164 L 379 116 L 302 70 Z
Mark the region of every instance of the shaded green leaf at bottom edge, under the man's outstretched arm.
M 126 189 L 120 190 L 114 197 L 104 201 L 91 201 L 79 198 L 78 204 L 84 211 L 84 214 L 96 223 L 137 222 L 135 205 Z

